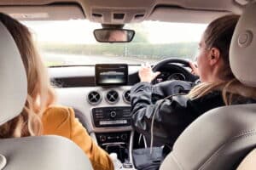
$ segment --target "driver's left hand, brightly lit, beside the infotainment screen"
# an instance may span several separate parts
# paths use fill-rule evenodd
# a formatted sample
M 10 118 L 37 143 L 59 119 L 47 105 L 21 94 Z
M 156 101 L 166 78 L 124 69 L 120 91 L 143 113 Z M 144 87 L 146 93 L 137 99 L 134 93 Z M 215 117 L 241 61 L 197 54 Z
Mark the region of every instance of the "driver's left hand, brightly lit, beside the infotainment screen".
M 152 82 L 155 77 L 160 75 L 160 71 L 153 72 L 150 65 L 143 64 L 142 67 L 140 68 L 138 74 L 139 74 L 141 82 Z

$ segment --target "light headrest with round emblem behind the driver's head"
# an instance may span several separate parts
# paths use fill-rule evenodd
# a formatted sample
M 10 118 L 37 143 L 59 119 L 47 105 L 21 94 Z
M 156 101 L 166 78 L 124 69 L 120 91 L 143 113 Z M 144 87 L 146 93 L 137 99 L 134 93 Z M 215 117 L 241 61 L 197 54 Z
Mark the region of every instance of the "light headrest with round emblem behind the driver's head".
M 230 67 L 235 77 L 256 87 L 256 3 L 241 14 L 230 44 Z

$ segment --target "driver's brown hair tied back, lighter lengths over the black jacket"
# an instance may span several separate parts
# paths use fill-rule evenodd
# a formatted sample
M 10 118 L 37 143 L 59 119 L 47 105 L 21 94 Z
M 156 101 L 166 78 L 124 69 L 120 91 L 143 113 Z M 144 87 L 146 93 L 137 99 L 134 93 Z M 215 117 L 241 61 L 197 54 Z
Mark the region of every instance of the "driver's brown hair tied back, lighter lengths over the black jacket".
M 207 26 L 207 30 L 204 32 L 206 47 L 207 49 L 218 48 L 220 59 L 223 59 L 224 65 L 218 71 L 220 81 L 202 82 L 195 86 L 188 94 L 190 99 L 200 98 L 215 90 L 222 91 L 225 105 L 232 104 L 239 96 L 256 98 L 256 88 L 243 85 L 236 79 L 230 69 L 230 42 L 238 19 L 239 15 L 226 15 L 213 20 Z

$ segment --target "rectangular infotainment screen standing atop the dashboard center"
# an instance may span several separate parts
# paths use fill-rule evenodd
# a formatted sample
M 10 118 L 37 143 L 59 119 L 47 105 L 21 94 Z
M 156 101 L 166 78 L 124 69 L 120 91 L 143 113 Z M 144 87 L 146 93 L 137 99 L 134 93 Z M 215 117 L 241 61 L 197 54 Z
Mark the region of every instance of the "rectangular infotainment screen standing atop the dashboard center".
M 128 82 L 128 65 L 95 65 L 95 77 L 97 86 L 126 85 Z

